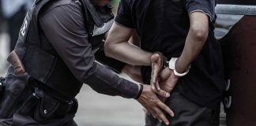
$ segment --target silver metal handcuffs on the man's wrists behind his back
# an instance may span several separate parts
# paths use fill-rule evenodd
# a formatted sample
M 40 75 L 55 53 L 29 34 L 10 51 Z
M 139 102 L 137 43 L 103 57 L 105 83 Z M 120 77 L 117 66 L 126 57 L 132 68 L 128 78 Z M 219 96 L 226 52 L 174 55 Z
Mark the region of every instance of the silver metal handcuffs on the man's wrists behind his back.
M 155 53 L 153 53 L 153 54 L 159 54 L 160 57 L 162 58 L 162 68 L 163 68 L 163 67 L 164 67 L 164 68 L 168 67 L 169 69 L 173 70 L 175 76 L 179 76 L 179 77 L 181 77 L 181 76 L 186 76 L 186 74 L 187 74 L 188 72 L 190 72 L 190 66 L 189 66 L 188 69 L 186 69 L 186 72 L 183 72 L 183 73 L 179 73 L 179 72 L 177 72 L 177 71 L 175 70 L 175 63 L 176 63 L 176 61 L 178 60 L 178 57 L 171 57 L 171 60 L 168 61 L 167 57 L 164 57 L 164 54 L 162 54 L 162 53 L 160 53 L 160 52 L 155 52 Z

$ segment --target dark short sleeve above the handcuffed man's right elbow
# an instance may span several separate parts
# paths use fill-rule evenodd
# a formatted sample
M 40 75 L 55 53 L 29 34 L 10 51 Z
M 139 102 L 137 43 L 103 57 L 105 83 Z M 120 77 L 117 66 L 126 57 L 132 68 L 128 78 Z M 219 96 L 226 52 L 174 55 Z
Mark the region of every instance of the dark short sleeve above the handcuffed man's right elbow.
M 186 0 L 186 10 L 189 14 L 201 11 L 208 15 L 212 22 L 216 20 L 215 6 L 215 0 Z

